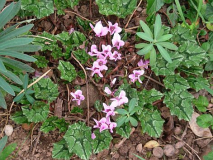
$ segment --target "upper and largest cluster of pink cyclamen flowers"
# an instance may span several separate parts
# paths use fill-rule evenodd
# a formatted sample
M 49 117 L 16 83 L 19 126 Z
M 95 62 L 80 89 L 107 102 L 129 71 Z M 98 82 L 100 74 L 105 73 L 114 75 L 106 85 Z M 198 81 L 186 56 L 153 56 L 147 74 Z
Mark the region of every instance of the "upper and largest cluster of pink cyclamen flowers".
M 110 35 L 113 35 L 112 38 L 112 46 L 111 45 L 102 45 L 102 51 L 98 51 L 97 45 L 92 45 L 90 52 L 88 54 L 90 56 L 96 56 L 98 59 L 93 63 L 91 68 L 87 68 L 88 70 L 92 71 L 92 76 L 94 74 L 98 74 L 99 77 L 103 77 L 101 73 L 104 70 L 108 70 L 107 59 L 110 60 L 120 60 L 121 54 L 117 51 L 120 47 L 124 46 L 124 41 L 121 40 L 121 36 L 119 33 L 122 31 L 118 24 L 115 23 L 114 25 L 111 22 L 109 23 L 109 27 L 103 27 L 101 21 L 97 22 L 95 27 L 90 24 L 91 28 L 95 32 L 97 37 L 106 36 L 108 32 Z M 117 48 L 117 50 L 115 50 Z

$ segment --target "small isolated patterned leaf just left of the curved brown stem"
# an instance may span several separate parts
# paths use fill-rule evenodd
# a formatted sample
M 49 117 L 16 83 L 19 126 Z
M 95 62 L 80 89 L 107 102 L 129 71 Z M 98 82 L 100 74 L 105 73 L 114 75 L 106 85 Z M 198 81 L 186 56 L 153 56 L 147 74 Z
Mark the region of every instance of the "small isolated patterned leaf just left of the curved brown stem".
M 72 82 L 77 76 L 75 67 L 70 62 L 60 60 L 58 69 L 61 72 L 61 78 L 69 82 Z

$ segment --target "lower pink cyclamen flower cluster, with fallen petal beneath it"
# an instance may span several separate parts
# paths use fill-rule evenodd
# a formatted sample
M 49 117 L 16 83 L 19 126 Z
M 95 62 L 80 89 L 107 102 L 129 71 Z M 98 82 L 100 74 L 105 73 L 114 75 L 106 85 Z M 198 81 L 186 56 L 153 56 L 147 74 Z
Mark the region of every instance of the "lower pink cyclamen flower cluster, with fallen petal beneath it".
M 118 106 L 121 106 L 125 103 L 128 103 L 128 98 L 126 97 L 126 92 L 121 91 L 118 96 L 114 96 L 114 92 L 112 92 L 108 87 L 105 87 L 104 91 L 107 94 L 112 95 L 114 98 L 111 98 L 110 100 L 112 101 L 111 105 L 107 105 L 103 103 L 104 110 L 103 112 L 106 113 L 106 117 L 101 118 L 99 121 L 94 119 L 96 125 L 93 128 L 99 128 L 100 132 L 109 129 L 111 133 L 113 133 L 113 129 L 117 126 L 115 122 L 110 121 L 110 116 L 115 115 L 115 108 Z M 95 134 L 92 134 L 92 139 L 95 139 Z

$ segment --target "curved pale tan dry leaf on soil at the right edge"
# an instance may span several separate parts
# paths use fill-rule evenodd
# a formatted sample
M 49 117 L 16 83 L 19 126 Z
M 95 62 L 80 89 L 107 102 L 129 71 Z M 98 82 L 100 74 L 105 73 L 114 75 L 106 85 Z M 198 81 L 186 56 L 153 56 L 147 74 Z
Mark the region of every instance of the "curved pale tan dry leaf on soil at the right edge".
M 199 116 L 198 113 L 194 112 L 192 114 L 192 119 L 189 121 L 189 126 L 193 133 L 198 137 L 212 137 L 212 133 L 209 128 L 201 128 L 197 125 L 197 117 Z

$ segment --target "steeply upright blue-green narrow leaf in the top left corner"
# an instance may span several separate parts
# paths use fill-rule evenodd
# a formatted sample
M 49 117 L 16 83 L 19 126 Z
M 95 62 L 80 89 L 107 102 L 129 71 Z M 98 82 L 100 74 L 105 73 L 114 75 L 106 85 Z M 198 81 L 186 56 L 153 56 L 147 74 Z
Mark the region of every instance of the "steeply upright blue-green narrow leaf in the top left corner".
M 11 3 L 0 13 L 0 29 L 8 22 L 7 17 L 10 15 L 13 10 L 14 3 Z

